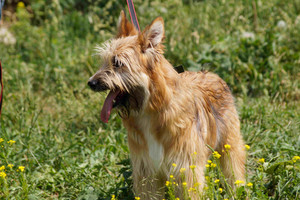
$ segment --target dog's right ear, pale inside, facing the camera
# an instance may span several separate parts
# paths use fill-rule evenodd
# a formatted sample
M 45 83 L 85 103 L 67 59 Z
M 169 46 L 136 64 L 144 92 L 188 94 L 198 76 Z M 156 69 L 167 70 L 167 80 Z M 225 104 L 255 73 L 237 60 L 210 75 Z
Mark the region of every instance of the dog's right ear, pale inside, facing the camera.
M 151 47 L 163 50 L 162 42 L 164 37 L 164 20 L 161 17 L 157 17 L 142 33 L 139 34 L 139 43 L 142 51 Z

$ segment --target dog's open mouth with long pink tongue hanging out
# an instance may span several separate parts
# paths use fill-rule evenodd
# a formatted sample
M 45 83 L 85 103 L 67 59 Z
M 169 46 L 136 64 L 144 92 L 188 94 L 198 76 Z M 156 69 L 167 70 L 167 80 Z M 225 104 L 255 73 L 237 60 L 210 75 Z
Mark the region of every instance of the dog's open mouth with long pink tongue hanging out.
M 108 122 L 111 110 L 120 105 L 123 101 L 125 101 L 125 98 L 126 93 L 121 92 L 119 89 L 111 90 L 109 92 L 101 110 L 101 120 L 104 123 Z

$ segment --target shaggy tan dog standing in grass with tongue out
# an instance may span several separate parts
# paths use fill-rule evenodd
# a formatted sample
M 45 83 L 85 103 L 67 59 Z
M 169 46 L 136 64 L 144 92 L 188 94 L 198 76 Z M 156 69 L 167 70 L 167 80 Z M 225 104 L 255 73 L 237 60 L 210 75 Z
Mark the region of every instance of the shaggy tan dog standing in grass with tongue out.
M 161 17 L 139 32 L 122 11 L 116 37 L 96 48 L 103 64 L 88 81 L 94 91 L 109 91 L 101 120 L 116 109 L 127 129 L 135 195 L 163 199 L 166 181 L 172 175 L 180 182 L 181 168 L 187 187 L 196 179 L 201 189 L 209 147 L 220 153 L 230 184 L 244 180 L 244 142 L 229 87 L 214 73 L 177 73 L 163 55 L 164 37 Z

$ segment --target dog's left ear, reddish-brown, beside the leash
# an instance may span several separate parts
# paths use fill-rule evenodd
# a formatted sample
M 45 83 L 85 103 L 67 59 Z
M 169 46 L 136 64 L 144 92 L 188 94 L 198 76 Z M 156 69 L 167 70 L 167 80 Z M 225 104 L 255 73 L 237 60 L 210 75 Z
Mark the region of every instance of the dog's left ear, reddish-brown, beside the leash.
M 122 10 L 118 20 L 118 33 L 116 37 L 120 38 L 120 37 L 127 37 L 130 35 L 137 35 L 137 34 L 138 31 L 136 30 L 134 25 L 128 21 L 125 12 Z

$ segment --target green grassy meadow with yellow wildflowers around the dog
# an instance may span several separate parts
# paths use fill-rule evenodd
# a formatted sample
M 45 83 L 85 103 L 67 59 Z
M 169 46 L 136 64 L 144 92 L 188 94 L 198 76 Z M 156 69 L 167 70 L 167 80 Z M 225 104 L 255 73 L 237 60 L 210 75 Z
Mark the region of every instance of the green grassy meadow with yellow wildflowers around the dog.
M 121 119 L 102 123 L 105 94 L 87 87 L 101 63 L 94 48 L 114 36 L 126 2 L 11 2 L 0 24 L 0 199 L 135 199 Z M 134 3 L 141 27 L 164 18 L 174 66 L 217 73 L 236 98 L 247 182 L 232 191 L 212 157 L 199 199 L 300 199 L 300 0 Z

